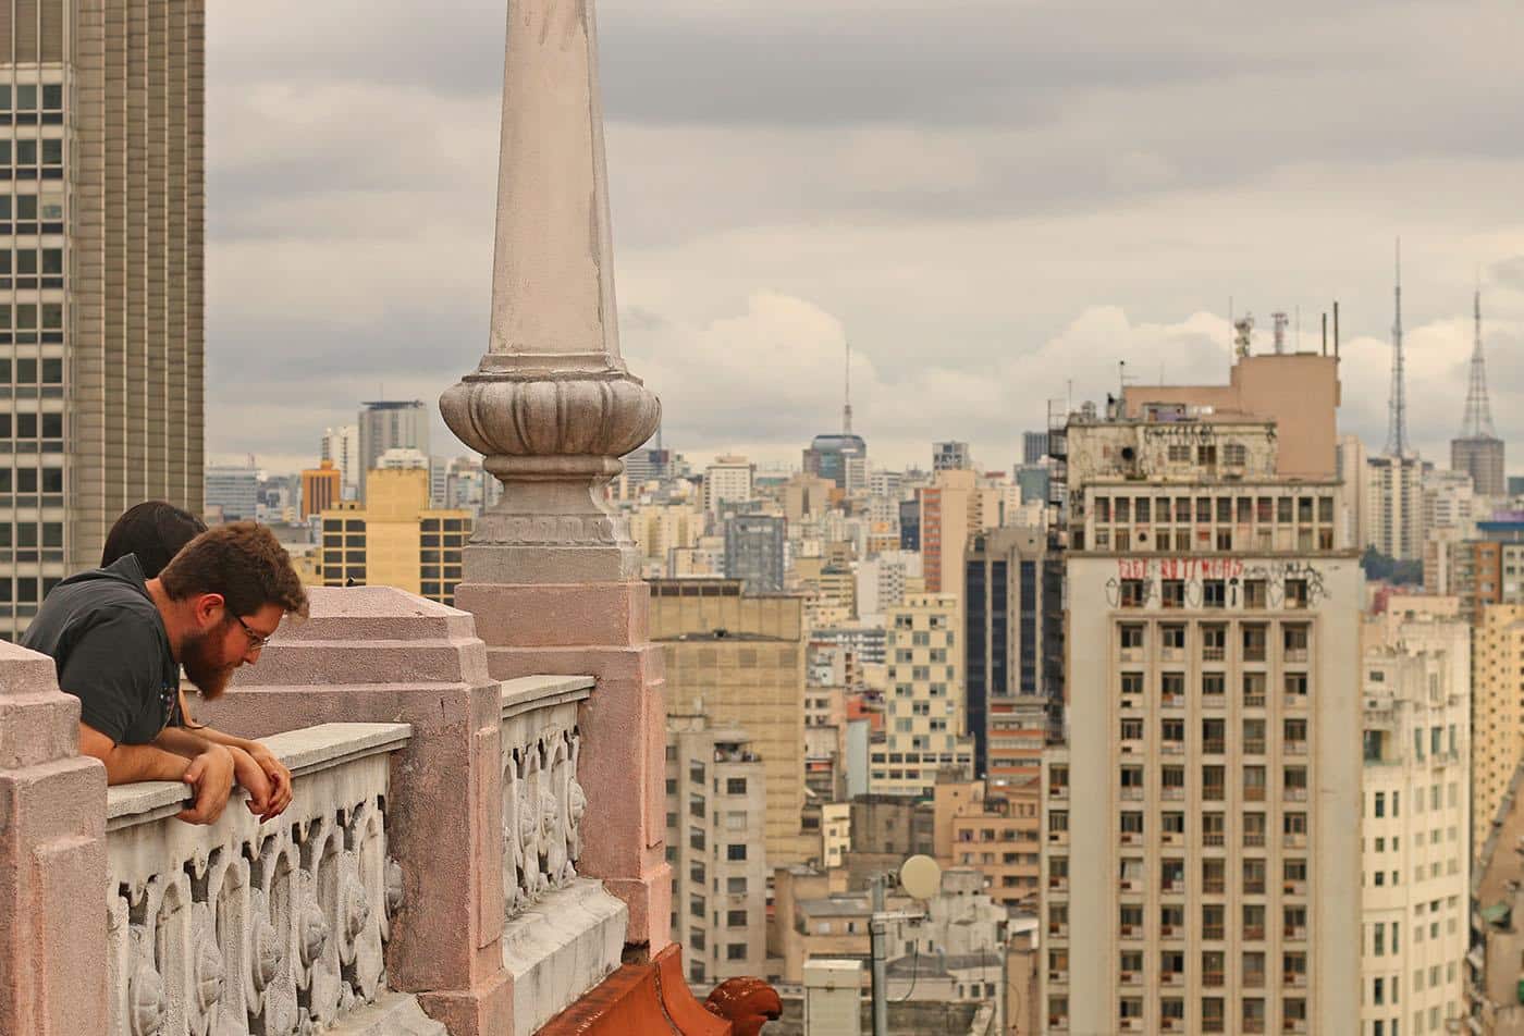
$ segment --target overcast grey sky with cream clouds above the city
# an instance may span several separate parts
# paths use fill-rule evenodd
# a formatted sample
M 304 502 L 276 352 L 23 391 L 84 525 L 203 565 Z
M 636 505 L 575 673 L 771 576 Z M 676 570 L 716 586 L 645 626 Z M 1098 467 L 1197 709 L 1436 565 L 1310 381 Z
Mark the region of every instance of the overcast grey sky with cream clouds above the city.
M 504 0 L 209 5 L 213 457 L 315 460 L 486 347 Z M 1020 459 L 1049 399 L 1222 381 L 1343 311 L 1341 424 L 1448 459 L 1481 279 L 1524 471 L 1524 18 L 1480 3 L 602 0 L 622 335 L 666 443 Z M 1295 329 L 1289 332 L 1295 338 Z M 463 451 L 436 422 L 434 452 Z

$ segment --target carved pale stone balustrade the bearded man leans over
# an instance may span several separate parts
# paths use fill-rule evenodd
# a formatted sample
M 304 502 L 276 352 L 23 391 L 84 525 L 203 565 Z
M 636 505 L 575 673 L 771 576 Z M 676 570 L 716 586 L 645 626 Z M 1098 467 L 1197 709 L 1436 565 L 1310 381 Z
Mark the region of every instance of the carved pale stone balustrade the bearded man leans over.
M 107 792 L 113 1036 L 309 1033 L 378 999 L 402 897 L 389 763 L 410 733 L 325 724 L 268 737 L 294 795 L 265 824 L 241 792 L 207 827 L 175 820 L 184 785 Z

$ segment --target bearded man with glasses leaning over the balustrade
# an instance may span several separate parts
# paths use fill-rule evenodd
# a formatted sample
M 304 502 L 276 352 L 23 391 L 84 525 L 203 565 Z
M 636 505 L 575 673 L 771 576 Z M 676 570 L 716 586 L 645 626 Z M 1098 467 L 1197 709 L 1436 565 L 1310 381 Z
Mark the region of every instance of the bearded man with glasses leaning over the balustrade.
M 235 777 L 267 800 L 270 779 L 247 751 L 177 724 L 180 667 L 215 699 L 287 614 L 306 614 L 290 556 L 268 529 L 233 523 L 192 539 L 152 579 L 133 555 L 70 576 L 21 643 L 50 655 L 59 687 L 79 698 L 79 751 L 105 763 L 108 783 L 184 782 L 195 800 L 180 818 L 209 824 Z

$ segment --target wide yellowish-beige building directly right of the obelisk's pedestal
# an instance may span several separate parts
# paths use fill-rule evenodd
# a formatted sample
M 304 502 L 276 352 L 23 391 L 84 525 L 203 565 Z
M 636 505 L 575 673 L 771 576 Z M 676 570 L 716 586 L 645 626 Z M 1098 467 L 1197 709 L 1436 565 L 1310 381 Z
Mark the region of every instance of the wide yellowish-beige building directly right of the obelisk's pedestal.
M 651 640 L 666 658 L 668 708 L 744 730 L 767 772 L 767 858 L 808 859 L 803 600 L 744 594 L 739 579 L 651 580 Z

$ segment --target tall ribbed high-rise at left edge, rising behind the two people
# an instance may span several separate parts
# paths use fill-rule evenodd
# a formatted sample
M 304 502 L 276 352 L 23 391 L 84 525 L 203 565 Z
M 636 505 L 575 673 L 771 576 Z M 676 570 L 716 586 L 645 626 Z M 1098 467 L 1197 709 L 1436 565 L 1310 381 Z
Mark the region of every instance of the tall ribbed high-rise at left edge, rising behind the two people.
M 204 3 L 0 0 L 0 635 L 203 506 Z

